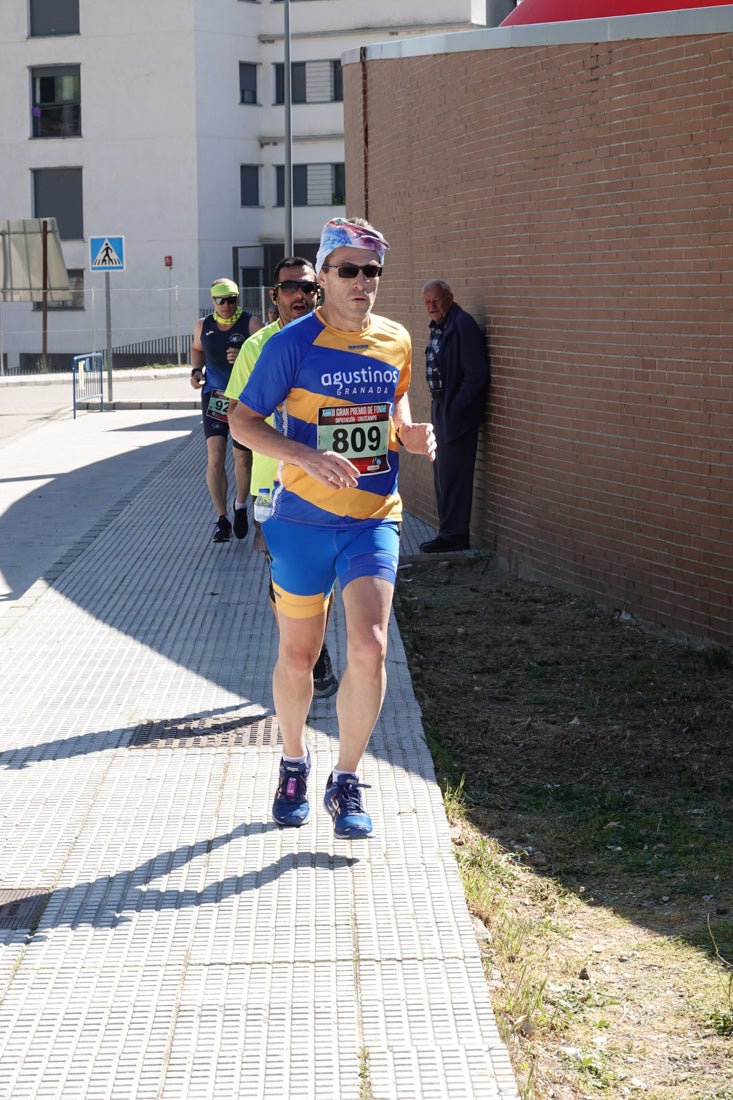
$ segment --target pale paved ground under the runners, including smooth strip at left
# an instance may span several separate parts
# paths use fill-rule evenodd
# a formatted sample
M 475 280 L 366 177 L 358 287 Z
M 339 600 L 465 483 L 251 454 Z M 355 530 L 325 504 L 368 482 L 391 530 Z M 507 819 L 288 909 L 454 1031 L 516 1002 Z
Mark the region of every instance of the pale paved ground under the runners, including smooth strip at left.
M 6 578 L 13 513 L 46 538 L 26 471 L 79 432 L 43 492 L 95 502 L 53 562 L 26 547 L 36 579 L 0 615 L 0 1098 L 512 1100 L 394 619 L 374 836 L 336 840 L 322 809 L 335 700 L 309 721 L 310 822 L 271 821 L 264 562 L 251 535 L 208 541 L 198 422 L 85 413 L 0 451 Z M 408 519 L 403 552 L 426 535 Z M 340 671 L 340 601 L 328 644 Z

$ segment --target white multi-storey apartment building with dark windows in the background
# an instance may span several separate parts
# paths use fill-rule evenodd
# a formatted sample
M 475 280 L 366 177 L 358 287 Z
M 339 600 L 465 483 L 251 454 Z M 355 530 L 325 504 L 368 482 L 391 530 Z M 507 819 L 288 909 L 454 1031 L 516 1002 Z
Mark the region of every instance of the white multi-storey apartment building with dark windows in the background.
M 344 212 L 341 56 L 393 36 L 496 25 L 503 0 L 292 0 L 294 251 Z M 47 315 L 54 367 L 190 333 L 227 275 L 267 284 L 285 239 L 283 0 L 2 0 L 0 219 L 55 217 L 73 298 Z M 429 124 L 426 121 L 426 124 Z M 92 271 L 91 238 L 123 270 Z M 262 302 L 253 292 L 254 308 Z M 0 304 L 4 369 L 42 349 L 37 304 Z

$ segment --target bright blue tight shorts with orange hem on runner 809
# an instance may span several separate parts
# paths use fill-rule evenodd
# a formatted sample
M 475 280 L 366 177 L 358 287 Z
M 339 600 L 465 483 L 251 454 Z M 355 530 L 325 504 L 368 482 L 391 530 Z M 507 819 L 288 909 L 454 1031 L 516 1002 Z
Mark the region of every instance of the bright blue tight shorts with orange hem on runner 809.
M 359 576 L 395 582 L 398 524 L 375 520 L 353 527 L 309 527 L 272 517 L 263 524 L 262 534 L 272 554 L 275 606 L 289 618 L 324 612 L 337 578 L 342 588 Z

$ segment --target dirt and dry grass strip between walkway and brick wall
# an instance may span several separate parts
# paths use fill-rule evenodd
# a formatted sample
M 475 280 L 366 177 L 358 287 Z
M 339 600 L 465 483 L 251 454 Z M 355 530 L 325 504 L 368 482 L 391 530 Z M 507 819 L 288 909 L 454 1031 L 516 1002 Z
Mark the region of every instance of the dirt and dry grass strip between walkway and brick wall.
M 730 652 L 482 554 L 395 612 L 523 1097 L 733 1100 Z

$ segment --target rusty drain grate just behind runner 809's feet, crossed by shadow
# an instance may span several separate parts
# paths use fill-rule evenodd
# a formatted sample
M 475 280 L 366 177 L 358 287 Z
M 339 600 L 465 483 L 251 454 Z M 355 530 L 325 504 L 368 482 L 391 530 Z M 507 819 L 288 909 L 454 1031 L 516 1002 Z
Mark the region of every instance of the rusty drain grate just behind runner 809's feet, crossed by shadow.
M 132 735 L 131 749 L 228 748 L 280 745 L 274 714 L 209 715 L 206 718 L 163 718 L 142 722 Z

